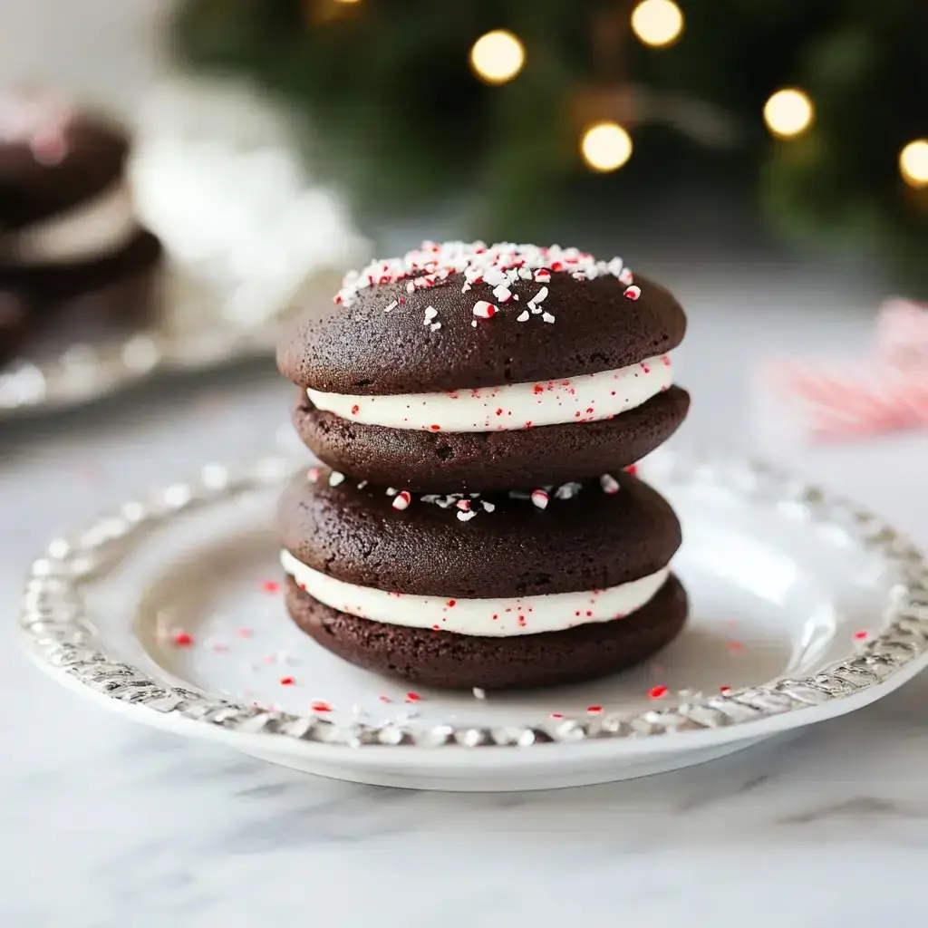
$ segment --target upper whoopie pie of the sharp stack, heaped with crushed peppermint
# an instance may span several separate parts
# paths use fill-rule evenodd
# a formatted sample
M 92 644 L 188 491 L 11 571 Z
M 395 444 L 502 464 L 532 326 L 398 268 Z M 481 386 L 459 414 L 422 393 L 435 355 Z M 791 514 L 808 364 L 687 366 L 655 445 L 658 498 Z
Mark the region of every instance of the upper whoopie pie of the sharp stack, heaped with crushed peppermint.
M 277 363 L 329 466 L 413 492 L 532 487 L 621 469 L 686 417 L 668 352 L 686 317 L 617 258 L 426 243 L 345 278 Z

